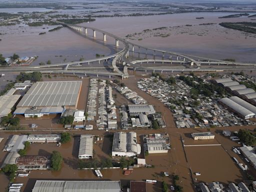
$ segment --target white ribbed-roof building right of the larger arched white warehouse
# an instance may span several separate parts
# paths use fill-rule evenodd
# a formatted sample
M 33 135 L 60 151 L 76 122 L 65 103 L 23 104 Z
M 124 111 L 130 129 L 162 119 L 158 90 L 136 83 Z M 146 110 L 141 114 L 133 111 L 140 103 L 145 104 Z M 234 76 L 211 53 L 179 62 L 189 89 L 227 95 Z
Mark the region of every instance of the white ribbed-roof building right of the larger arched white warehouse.
M 169 143 L 166 143 L 166 138 L 162 137 L 161 134 L 149 135 L 145 138 L 144 150 L 147 150 L 148 153 L 168 152 L 170 145 Z

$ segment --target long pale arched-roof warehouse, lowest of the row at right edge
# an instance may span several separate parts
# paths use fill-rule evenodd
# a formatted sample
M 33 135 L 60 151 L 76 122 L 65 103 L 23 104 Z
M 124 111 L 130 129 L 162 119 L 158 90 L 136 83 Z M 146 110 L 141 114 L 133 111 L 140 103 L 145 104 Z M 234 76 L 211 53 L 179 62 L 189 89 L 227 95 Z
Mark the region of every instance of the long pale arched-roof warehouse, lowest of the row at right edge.
M 255 113 L 251 112 L 250 110 L 244 108 L 243 106 L 237 104 L 236 102 L 232 101 L 231 99 L 224 97 L 218 100 L 221 104 L 228 107 L 233 112 L 237 113 L 241 118 L 248 119 L 252 118 Z

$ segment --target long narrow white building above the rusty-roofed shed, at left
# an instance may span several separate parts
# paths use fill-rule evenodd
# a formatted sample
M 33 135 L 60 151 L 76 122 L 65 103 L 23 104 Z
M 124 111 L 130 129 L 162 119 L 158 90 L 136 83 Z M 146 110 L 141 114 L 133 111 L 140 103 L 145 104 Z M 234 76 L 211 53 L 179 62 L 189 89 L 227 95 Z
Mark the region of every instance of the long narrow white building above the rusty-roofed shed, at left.
M 27 136 L 29 142 L 59 142 L 60 138 L 58 134 L 29 134 Z

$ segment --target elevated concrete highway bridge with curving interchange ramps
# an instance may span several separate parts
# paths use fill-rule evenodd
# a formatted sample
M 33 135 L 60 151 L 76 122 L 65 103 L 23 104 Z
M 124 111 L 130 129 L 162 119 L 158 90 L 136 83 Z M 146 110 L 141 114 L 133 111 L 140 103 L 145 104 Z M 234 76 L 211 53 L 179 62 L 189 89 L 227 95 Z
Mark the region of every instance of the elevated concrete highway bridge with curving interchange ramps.
M 105 42 L 107 41 L 107 36 L 114 38 L 115 40 L 115 46 L 119 47 L 119 43 L 123 44 L 123 48 L 111 55 L 104 56 L 104 57 L 98 57 L 95 59 L 88 59 L 88 60 L 81 60 L 81 61 L 73 61 L 73 62 L 64 62 L 64 63 L 56 63 L 56 64 L 48 64 L 48 65 L 39 65 L 39 66 L 26 66 L 26 67 L 2 67 L 2 71 L 41 71 L 41 72 L 61 72 L 61 73 L 88 73 L 88 74 L 102 74 L 102 75 L 117 75 L 121 78 L 126 78 L 129 76 L 128 74 L 128 68 L 132 68 L 133 70 L 139 69 L 139 70 L 147 70 L 150 71 L 219 71 L 219 70 L 225 70 L 228 68 L 246 68 L 248 66 L 250 67 L 256 67 L 256 63 L 245 63 L 245 62 L 231 62 L 231 61 L 224 61 L 224 60 L 217 60 L 217 59 L 210 59 L 210 58 L 204 58 L 204 57 L 198 57 L 194 55 L 188 55 L 188 54 L 181 54 L 177 52 L 172 51 L 165 51 L 165 50 L 159 50 L 154 48 L 148 48 L 145 46 L 141 46 L 132 42 L 129 42 L 123 38 L 120 38 L 112 33 L 103 31 L 101 29 L 97 29 L 90 26 L 80 26 L 77 24 L 66 24 L 63 22 L 59 22 L 54 20 L 55 22 L 58 22 L 59 24 L 62 24 L 64 26 L 69 27 L 71 30 L 74 30 L 76 32 L 79 32 L 81 34 L 84 34 L 84 36 L 88 36 L 89 30 L 92 31 L 93 38 L 96 37 L 96 32 L 102 34 L 102 40 Z M 135 52 L 135 48 L 137 49 L 138 54 L 140 54 L 141 49 L 144 49 L 145 57 L 147 57 L 147 54 L 153 55 L 153 59 L 138 59 L 138 60 L 130 60 L 128 58 L 129 51 Z M 155 59 L 157 55 L 162 56 L 162 59 Z M 168 59 L 164 59 L 164 57 L 168 57 Z M 111 59 L 111 69 L 113 69 L 113 72 L 108 71 L 98 71 L 97 69 L 102 69 L 104 67 L 90 67 L 90 63 L 92 62 L 98 62 L 101 61 L 107 61 L 108 59 Z M 117 67 L 117 62 L 122 62 L 123 65 L 123 71 L 121 71 Z M 147 65 L 142 65 L 142 63 L 147 63 Z M 85 67 L 82 64 L 88 64 L 88 67 Z M 149 63 L 149 64 L 148 64 Z M 150 66 L 151 63 L 169 63 L 170 66 Z M 179 64 L 178 66 L 175 66 L 173 64 Z M 225 66 L 224 66 L 225 65 Z M 184 67 L 186 66 L 186 67 Z M 76 70 L 76 68 L 79 70 Z M 93 70 L 97 71 L 93 71 Z

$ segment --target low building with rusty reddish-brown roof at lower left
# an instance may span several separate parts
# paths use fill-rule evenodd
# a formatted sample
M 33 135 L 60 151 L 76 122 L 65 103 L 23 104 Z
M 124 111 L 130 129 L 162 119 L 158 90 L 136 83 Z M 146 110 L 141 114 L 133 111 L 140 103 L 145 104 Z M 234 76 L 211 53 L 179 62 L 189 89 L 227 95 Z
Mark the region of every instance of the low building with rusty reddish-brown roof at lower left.
M 25 155 L 19 156 L 15 163 L 18 170 L 50 169 L 50 156 Z

